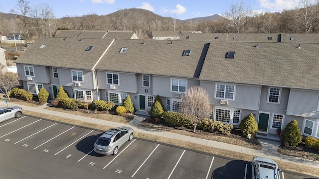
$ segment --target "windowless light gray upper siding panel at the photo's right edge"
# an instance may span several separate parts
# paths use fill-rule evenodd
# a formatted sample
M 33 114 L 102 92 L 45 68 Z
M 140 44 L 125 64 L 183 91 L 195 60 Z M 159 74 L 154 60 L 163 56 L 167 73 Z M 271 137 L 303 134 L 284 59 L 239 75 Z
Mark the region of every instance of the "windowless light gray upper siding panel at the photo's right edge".
M 291 89 L 287 114 L 319 118 L 319 91 Z

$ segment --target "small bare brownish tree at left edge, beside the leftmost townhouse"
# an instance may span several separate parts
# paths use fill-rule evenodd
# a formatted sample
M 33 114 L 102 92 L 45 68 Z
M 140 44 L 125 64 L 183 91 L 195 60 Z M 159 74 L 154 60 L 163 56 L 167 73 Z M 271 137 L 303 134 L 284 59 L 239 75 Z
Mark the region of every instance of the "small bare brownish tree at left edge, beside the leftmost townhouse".
M 20 82 L 17 74 L 12 72 L 0 72 L 0 90 L 8 98 L 8 100 L 10 99 L 10 96 L 8 95 L 10 90 L 18 86 L 19 84 Z

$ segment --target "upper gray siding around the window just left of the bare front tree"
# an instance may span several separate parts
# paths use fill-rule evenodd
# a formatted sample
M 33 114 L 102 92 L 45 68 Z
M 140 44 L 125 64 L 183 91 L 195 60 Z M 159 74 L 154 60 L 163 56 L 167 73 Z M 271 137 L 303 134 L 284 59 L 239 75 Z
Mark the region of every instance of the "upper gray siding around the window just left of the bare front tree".
M 192 86 L 199 86 L 199 81 L 195 79 L 178 78 L 174 79 L 186 80 L 186 89 Z M 153 76 L 153 95 L 160 95 L 164 97 L 175 97 L 175 92 L 170 91 L 170 77 Z

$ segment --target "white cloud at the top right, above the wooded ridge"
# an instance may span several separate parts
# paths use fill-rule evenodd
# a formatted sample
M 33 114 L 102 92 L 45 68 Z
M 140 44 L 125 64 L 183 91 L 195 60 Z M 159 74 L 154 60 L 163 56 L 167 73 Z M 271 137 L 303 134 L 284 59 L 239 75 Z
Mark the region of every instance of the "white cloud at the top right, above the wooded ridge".
M 260 7 L 271 11 L 283 11 L 284 9 L 292 9 L 298 5 L 300 0 L 258 0 Z

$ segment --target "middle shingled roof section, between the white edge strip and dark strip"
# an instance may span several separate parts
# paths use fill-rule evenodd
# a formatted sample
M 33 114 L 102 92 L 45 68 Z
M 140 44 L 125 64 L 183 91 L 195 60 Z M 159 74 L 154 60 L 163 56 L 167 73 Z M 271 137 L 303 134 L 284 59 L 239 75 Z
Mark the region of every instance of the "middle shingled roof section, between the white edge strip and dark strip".
M 143 45 L 143 42 L 145 44 Z M 111 45 L 95 69 L 114 72 L 142 73 L 179 77 L 194 77 L 197 64 L 202 60 L 204 41 L 168 40 L 124 40 L 118 39 Z M 125 53 L 120 53 L 127 47 Z M 191 50 L 189 56 L 182 56 Z M 196 70 L 197 69 L 197 70 Z

